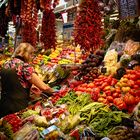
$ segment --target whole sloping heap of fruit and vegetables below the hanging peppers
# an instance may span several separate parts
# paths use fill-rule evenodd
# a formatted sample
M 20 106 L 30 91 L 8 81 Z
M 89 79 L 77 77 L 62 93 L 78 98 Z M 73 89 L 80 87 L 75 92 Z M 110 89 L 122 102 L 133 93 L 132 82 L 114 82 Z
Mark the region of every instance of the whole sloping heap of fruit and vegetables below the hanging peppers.
M 76 53 L 77 59 L 83 58 L 79 47 Z M 55 93 L 48 99 L 43 93 L 36 104 L 3 117 L 1 137 L 31 139 L 34 135 L 36 139 L 66 140 L 140 137 L 140 70 L 123 67 L 116 68 L 115 74 L 107 74 L 101 69 L 109 57 L 105 58 L 104 50 L 89 53 L 78 63 L 72 61 L 72 54 L 74 50 L 70 46 L 35 57 L 36 72 Z M 138 52 L 132 57 L 139 61 Z M 71 65 L 64 59 L 71 61 Z

